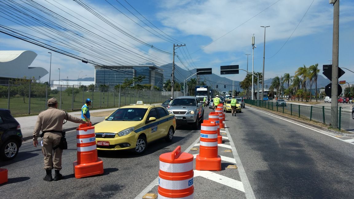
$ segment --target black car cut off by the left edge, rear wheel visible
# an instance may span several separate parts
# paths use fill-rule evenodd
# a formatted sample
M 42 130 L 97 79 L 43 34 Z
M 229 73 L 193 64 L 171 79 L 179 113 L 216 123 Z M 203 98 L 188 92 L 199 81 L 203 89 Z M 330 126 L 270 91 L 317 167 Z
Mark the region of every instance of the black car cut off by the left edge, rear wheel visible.
M 0 108 L 0 159 L 11 160 L 22 144 L 21 125 L 10 110 Z

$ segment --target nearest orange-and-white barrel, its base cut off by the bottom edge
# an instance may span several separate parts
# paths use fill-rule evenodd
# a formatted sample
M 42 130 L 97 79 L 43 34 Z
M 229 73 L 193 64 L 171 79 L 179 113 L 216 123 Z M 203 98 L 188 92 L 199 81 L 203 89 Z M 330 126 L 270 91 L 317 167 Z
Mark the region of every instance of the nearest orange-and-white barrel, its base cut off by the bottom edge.
M 193 199 L 193 159 L 181 146 L 160 155 L 159 199 Z

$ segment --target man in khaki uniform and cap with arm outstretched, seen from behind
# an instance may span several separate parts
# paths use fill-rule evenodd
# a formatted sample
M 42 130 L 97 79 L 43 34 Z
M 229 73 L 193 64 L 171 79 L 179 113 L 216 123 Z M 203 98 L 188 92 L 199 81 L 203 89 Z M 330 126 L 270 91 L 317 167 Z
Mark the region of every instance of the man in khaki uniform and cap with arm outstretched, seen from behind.
M 42 153 L 44 155 L 44 169 L 46 176 L 43 178 L 45 181 L 52 181 L 52 169 L 55 169 L 54 181 L 64 178 L 59 171 L 62 169 L 62 153 L 59 143 L 63 132 L 63 121 L 69 120 L 74 123 L 89 124 L 89 122 L 69 115 L 65 110 L 58 108 L 56 98 L 48 99 L 48 109 L 39 113 L 34 131 L 33 131 L 33 145 L 37 147 L 39 132 L 42 131 Z M 56 149 L 53 150 L 53 147 Z

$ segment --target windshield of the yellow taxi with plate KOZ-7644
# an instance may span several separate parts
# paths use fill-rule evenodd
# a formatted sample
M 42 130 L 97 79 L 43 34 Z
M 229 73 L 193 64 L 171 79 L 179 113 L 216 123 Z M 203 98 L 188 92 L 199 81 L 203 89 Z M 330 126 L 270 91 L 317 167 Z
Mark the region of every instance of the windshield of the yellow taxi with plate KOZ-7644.
M 120 108 L 109 115 L 107 121 L 141 121 L 148 109 L 146 108 Z

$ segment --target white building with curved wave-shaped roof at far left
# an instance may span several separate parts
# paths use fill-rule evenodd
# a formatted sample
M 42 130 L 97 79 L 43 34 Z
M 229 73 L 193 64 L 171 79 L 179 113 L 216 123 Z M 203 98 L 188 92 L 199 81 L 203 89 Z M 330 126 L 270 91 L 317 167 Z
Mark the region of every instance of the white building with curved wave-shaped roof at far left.
M 48 71 L 42 67 L 29 67 L 37 54 L 33 51 L 0 51 L 0 78 L 42 78 Z

